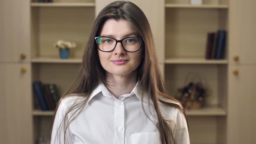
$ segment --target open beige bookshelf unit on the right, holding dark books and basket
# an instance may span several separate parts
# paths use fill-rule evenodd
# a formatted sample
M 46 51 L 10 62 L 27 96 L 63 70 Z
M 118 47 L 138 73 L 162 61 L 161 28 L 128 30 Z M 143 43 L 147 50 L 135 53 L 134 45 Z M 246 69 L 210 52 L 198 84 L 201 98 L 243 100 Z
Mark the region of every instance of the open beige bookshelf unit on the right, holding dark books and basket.
M 228 0 L 203 0 L 191 5 L 189 0 L 165 0 L 164 79 L 170 95 L 185 86 L 189 72 L 199 73 L 207 89 L 206 105 L 187 110 L 191 144 L 219 144 L 225 141 L 227 115 L 228 50 L 225 59 L 205 59 L 207 33 L 225 29 L 229 32 Z M 228 36 L 227 36 L 228 39 Z M 228 41 L 226 41 L 226 44 Z M 220 134 L 223 134 L 220 136 Z

